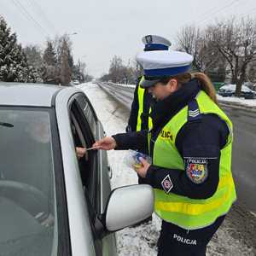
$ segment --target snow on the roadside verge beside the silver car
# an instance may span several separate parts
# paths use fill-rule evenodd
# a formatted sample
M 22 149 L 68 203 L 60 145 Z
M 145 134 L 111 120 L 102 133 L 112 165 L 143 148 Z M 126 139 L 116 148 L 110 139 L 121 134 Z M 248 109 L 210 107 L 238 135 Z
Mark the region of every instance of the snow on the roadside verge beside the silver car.
M 96 84 L 80 84 L 96 114 L 102 121 L 107 135 L 124 132 L 127 122 L 127 110 L 109 97 Z M 137 174 L 125 165 L 126 151 L 108 151 L 108 158 L 113 169 L 112 188 L 137 183 Z M 135 228 L 126 228 L 117 232 L 118 253 L 120 256 L 154 256 L 157 254 L 156 243 L 160 232 L 160 218 L 153 216 L 152 223 Z M 245 247 L 240 240 L 230 236 L 230 226 L 223 225 L 210 242 L 207 255 L 253 255 L 252 249 Z

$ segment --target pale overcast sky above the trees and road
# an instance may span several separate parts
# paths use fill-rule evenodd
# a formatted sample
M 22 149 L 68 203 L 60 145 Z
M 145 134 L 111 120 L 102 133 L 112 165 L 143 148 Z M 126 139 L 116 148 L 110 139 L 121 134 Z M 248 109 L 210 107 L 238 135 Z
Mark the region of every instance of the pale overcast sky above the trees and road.
M 175 43 L 185 25 L 206 26 L 231 15 L 256 18 L 255 0 L 0 0 L 0 15 L 19 43 L 38 44 L 56 34 L 72 35 L 75 61 L 100 77 L 113 55 L 127 64 L 143 49 L 141 38 L 157 34 Z

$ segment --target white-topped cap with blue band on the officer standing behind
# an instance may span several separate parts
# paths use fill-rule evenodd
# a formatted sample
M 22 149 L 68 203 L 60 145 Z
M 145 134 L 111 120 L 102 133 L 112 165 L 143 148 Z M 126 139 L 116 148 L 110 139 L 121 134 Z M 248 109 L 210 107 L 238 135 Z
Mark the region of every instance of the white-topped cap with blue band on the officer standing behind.
M 171 46 L 171 42 L 169 40 L 156 35 L 147 35 L 143 37 L 143 44 L 145 44 L 144 51 L 168 50 Z

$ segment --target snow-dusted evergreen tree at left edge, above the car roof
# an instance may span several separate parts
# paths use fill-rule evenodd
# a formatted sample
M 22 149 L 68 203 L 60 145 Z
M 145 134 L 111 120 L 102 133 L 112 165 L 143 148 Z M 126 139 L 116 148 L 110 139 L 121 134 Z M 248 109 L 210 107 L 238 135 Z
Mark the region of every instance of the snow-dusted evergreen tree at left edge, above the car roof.
M 0 17 L 0 80 L 6 82 L 37 82 L 36 69 L 29 67 L 15 33 L 11 33 Z

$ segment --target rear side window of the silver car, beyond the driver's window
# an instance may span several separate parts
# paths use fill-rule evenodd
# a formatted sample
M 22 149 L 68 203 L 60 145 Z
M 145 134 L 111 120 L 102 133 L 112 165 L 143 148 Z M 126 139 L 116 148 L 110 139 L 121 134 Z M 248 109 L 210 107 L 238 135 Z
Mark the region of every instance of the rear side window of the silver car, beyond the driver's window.
M 90 125 L 90 130 L 92 131 L 94 137 L 96 137 L 96 113 L 92 106 L 90 105 L 89 99 L 79 94 L 79 96 L 76 97 L 77 102 L 79 103 L 79 107 L 83 110 L 83 113 Z

